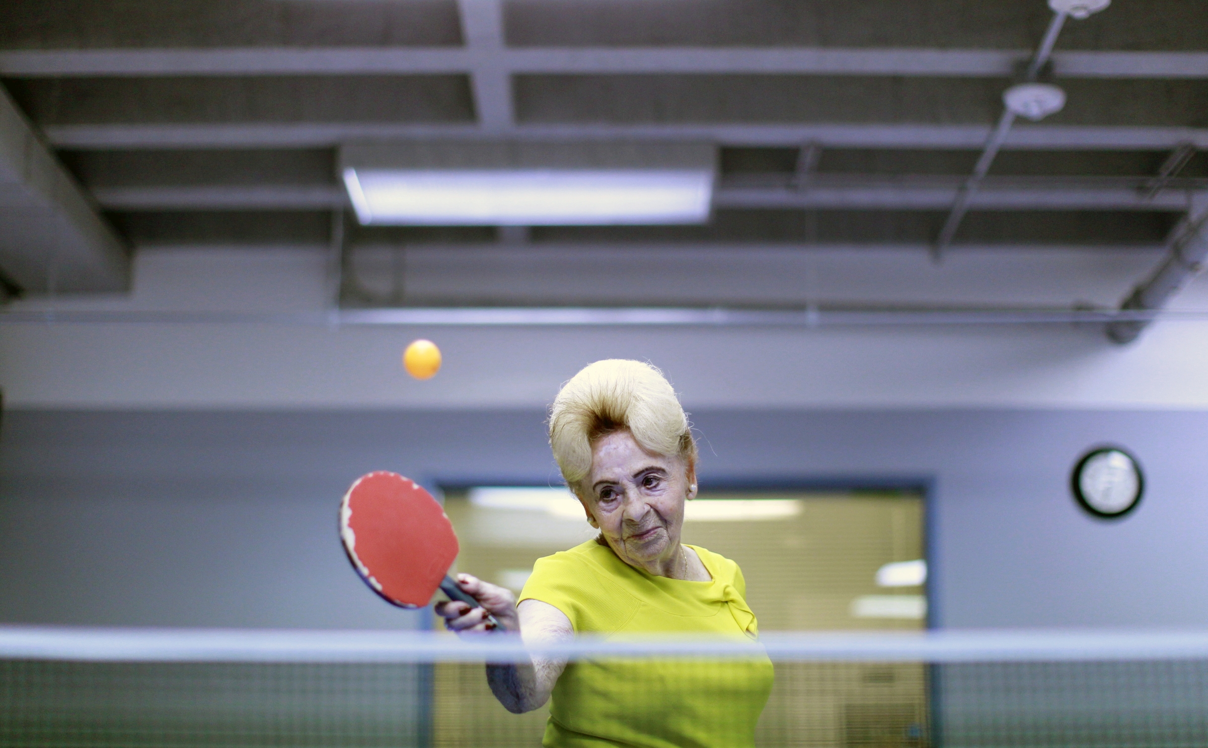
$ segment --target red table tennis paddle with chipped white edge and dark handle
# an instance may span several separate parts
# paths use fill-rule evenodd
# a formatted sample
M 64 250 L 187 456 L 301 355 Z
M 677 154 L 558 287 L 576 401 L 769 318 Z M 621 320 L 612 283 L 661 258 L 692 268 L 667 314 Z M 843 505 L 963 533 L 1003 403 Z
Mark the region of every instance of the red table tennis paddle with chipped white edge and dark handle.
M 481 607 L 447 574 L 457 558 L 453 524 L 432 494 L 397 472 L 356 479 L 339 503 L 339 539 L 371 590 L 400 608 L 422 608 L 436 590 Z M 488 627 L 499 621 L 487 615 Z

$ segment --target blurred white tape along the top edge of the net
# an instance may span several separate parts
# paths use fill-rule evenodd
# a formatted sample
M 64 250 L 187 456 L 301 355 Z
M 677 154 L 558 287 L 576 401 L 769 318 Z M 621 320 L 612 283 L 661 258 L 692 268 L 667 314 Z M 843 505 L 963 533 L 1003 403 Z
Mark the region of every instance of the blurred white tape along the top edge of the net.
M 68 628 L 0 626 L 0 659 L 108 662 L 483 662 L 527 654 L 749 656 L 753 643 L 707 637 L 525 645 L 509 634 L 431 631 Z M 1208 632 L 931 631 L 767 633 L 757 646 L 784 662 L 1071 662 L 1208 659 Z

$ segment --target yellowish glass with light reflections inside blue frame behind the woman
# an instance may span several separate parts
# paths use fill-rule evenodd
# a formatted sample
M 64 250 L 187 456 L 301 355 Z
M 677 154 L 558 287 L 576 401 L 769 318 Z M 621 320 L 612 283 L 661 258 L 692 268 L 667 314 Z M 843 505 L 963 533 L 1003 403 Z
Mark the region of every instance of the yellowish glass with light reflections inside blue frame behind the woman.
M 516 592 L 534 562 L 591 540 L 565 489 L 445 492 L 461 543 L 455 569 Z M 761 632 L 927 627 L 927 539 L 919 491 L 702 491 L 684 541 L 738 562 Z M 481 667 L 434 673 L 435 746 L 533 746 L 547 709 L 513 715 Z M 925 746 L 928 678 L 919 663 L 779 663 L 760 746 Z

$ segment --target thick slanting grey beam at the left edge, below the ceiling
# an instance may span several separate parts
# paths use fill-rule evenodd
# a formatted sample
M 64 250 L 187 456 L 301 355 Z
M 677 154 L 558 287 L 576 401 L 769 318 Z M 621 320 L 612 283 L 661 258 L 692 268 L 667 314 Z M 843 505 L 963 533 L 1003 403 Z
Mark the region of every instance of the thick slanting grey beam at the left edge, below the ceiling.
M 5 295 L 124 290 L 129 272 L 126 247 L 0 88 Z

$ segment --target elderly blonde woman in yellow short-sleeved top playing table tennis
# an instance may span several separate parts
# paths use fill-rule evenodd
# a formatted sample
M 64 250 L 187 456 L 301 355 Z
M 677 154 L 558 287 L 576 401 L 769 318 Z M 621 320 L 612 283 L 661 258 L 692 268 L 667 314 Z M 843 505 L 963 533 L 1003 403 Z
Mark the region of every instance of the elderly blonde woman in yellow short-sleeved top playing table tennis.
M 478 607 L 439 604 L 451 630 L 482 631 L 489 613 L 527 643 L 654 632 L 755 637 L 738 564 L 680 543 L 684 503 L 696 497 L 696 442 L 657 369 L 606 360 L 580 371 L 553 401 L 550 445 L 599 535 L 539 559 L 518 603 L 503 587 L 459 575 Z M 488 666 L 487 680 L 516 713 L 552 696 L 546 748 L 742 748 L 754 746 L 772 663 L 534 656 Z

